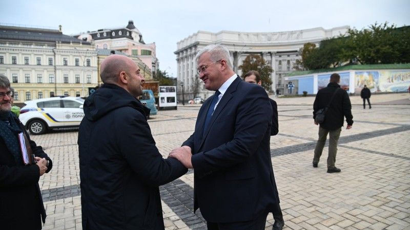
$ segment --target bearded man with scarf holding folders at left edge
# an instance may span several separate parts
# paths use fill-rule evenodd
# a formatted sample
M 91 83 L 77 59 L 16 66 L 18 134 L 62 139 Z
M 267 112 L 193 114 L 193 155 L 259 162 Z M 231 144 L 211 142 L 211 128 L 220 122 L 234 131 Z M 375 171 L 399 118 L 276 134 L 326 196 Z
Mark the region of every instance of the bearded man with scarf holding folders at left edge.
M 52 162 L 11 112 L 12 97 L 10 81 L 0 74 L 0 228 L 42 229 L 46 211 L 38 180 L 50 172 Z M 18 133 L 27 137 L 36 163 L 23 163 Z

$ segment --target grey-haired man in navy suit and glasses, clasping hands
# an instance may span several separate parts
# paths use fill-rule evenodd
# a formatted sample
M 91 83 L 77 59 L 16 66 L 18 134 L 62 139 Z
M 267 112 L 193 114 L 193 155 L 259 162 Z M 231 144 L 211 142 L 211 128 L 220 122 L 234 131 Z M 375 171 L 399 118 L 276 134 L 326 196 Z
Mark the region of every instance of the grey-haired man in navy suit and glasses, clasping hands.
M 264 229 L 279 202 L 268 95 L 233 72 L 222 45 L 205 47 L 196 62 L 199 78 L 216 93 L 199 109 L 194 133 L 170 156 L 194 169 L 194 210 L 208 229 Z

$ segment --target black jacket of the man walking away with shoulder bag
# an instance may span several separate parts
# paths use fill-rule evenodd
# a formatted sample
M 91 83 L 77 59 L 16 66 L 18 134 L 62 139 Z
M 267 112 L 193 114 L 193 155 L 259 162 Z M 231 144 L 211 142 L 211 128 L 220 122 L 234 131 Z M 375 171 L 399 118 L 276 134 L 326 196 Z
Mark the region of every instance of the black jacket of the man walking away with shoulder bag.
M 319 109 L 329 104 L 337 88 L 340 88 L 339 84 L 329 83 L 327 87 L 317 92 L 315 102 L 313 103 L 313 119 L 315 119 L 315 113 Z M 336 130 L 343 126 L 343 117 L 346 118 L 347 125 L 353 125 L 352 105 L 349 96 L 345 90 L 338 90 L 329 109 L 327 109 L 324 122 L 320 124 L 320 127 Z

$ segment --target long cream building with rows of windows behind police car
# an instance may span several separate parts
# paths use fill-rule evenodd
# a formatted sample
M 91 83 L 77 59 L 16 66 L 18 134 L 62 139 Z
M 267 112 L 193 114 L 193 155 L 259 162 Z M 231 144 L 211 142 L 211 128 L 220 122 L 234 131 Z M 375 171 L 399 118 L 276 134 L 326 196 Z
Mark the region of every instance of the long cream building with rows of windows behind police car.
M 88 96 L 98 83 L 97 52 L 88 41 L 59 30 L 0 26 L 0 73 L 15 103 L 68 95 Z

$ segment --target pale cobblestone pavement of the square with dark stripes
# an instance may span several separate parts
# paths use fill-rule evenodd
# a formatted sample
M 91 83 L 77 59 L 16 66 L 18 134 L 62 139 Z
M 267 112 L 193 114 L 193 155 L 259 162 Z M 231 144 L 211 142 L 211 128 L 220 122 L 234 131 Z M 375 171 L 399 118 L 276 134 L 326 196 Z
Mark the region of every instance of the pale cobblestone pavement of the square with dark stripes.
M 351 97 L 354 125 L 340 135 L 336 166 L 326 173 L 327 147 L 312 167 L 318 127 L 314 98 L 279 98 L 279 134 L 272 164 L 284 229 L 410 229 L 410 100 L 408 94 L 372 96 L 372 109 Z M 149 120 L 164 157 L 192 134 L 199 106 L 161 110 Z M 40 178 L 47 220 L 43 229 L 81 229 L 78 129 L 31 136 L 53 159 Z M 160 187 L 166 229 L 206 229 L 193 213 L 193 171 Z M 270 214 L 266 229 L 271 229 Z

